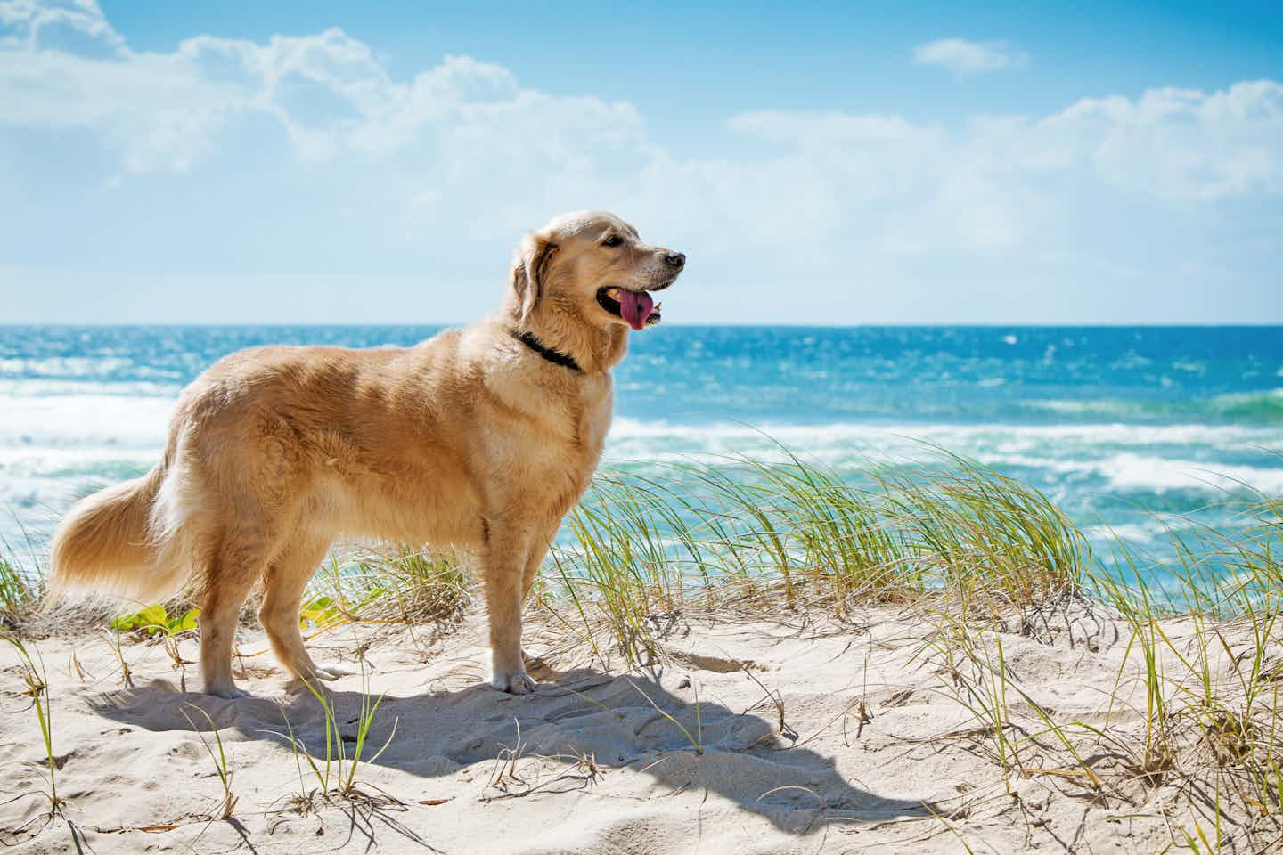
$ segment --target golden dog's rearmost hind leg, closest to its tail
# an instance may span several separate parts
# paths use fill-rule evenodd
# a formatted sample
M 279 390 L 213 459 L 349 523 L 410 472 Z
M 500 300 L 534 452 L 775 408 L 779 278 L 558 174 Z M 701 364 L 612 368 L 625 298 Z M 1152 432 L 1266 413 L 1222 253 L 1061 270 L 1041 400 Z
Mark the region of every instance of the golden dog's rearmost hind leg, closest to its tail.
M 267 532 L 237 526 L 223 532 L 204 568 L 200 596 L 200 677 L 207 695 L 245 697 L 232 681 L 236 622 L 272 551 Z

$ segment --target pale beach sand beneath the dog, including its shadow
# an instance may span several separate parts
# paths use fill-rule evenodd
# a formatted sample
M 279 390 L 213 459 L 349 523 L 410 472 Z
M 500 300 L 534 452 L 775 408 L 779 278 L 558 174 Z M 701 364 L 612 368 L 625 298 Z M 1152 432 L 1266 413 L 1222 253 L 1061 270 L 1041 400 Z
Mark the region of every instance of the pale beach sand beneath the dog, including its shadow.
M 1019 623 L 984 637 L 1002 640 L 1020 687 L 1058 720 L 1103 722 L 1126 650 L 1120 624 L 1091 610 Z M 36 719 L 15 656 L 0 650 L 3 842 L 104 855 L 960 852 L 964 842 L 976 852 L 1157 852 L 1173 829 L 1207 822 L 1175 783 L 1142 786 L 1121 761 L 1105 797 L 1051 773 L 1005 783 L 992 740 L 949 697 L 930 622 L 908 610 L 840 622 L 692 617 L 667 633 L 662 665 L 631 673 L 588 667 L 554 622 L 535 624 L 527 650 L 568 652 L 535 672 L 543 682 L 525 697 L 485 685 L 480 615 L 443 637 L 345 626 L 313 640 L 319 661 L 349 669 L 364 649 L 368 688 L 386 693 L 366 756 L 387 746 L 359 764 L 353 797 L 305 805 L 300 793 L 318 784 L 305 765 L 300 782 L 286 722 L 323 759 L 323 714 L 304 687 L 285 686 L 260 633 L 239 636 L 240 685 L 254 696 L 236 701 L 182 692 L 183 672 L 158 643 L 126 641 L 127 687 L 108 636 L 37 641 L 65 799 L 53 822 L 33 795 L 47 788 Z M 1166 628 L 1183 632 L 1180 622 Z M 195 659 L 195 641 L 180 651 Z M 198 685 L 195 665 L 185 674 Z M 361 676 L 326 691 L 352 737 Z M 1124 678 L 1115 727 L 1139 728 L 1128 704 L 1143 706 L 1141 691 Z M 1028 713 L 1015 693 L 1008 704 L 1014 720 Z M 222 787 L 194 722 L 208 724 L 189 705 L 235 759 L 231 819 L 217 819 Z M 1037 736 L 1033 719 L 1024 727 Z M 1030 743 L 1025 763 L 1058 768 L 1047 742 Z

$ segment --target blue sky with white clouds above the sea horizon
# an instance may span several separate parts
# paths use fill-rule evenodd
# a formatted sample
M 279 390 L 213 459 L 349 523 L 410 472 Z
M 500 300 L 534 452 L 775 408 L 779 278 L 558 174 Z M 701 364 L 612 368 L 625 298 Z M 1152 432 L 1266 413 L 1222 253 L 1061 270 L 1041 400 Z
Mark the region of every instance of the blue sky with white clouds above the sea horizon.
M 1283 323 L 1283 4 L 0 0 L 0 323 Z

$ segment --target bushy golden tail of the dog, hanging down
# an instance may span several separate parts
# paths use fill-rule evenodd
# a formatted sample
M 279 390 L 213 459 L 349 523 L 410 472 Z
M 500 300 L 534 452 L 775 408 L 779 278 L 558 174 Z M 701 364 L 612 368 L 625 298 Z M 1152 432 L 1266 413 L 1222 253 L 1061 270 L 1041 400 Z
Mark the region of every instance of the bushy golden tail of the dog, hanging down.
M 50 547 L 49 604 L 69 592 L 144 602 L 173 594 L 180 579 L 176 568 L 160 567 L 164 550 L 150 522 L 167 468 L 158 463 L 141 478 L 87 496 L 67 513 Z

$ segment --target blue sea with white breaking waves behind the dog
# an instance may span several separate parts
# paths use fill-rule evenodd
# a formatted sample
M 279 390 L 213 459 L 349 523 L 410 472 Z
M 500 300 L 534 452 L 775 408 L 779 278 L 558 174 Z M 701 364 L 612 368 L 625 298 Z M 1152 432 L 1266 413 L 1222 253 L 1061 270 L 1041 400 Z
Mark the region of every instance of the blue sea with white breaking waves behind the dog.
M 436 327 L 0 327 L 0 536 L 145 472 L 178 391 L 262 344 L 411 345 Z M 634 335 L 607 461 L 777 455 L 854 473 L 934 444 L 1020 478 L 1097 541 L 1234 526 L 1283 494 L 1283 327 L 684 327 Z

